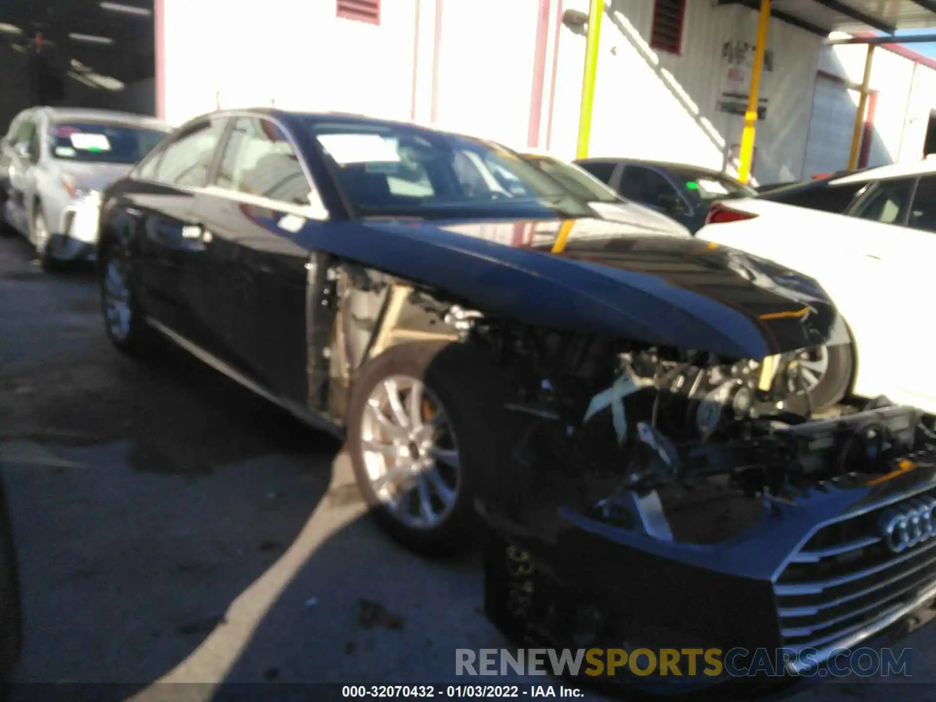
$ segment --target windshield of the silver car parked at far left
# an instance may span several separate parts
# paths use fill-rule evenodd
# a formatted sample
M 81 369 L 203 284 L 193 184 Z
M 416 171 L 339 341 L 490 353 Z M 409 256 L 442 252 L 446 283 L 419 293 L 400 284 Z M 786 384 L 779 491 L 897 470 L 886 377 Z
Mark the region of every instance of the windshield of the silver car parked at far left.
M 51 125 L 49 148 L 52 158 L 63 161 L 135 164 L 166 134 L 126 124 L 60 122 Z

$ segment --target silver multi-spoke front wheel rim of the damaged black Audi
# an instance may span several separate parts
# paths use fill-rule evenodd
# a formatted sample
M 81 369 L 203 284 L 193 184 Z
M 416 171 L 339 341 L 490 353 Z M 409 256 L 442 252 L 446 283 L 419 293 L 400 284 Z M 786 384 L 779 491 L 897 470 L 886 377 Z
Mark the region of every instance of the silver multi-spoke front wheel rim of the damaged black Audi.
M 458 442 L 442 403 L 417 378 L 391 375 L 371 391 L 360 450 L 371 489 L 408 527 L 433 529 L 461 490 Z

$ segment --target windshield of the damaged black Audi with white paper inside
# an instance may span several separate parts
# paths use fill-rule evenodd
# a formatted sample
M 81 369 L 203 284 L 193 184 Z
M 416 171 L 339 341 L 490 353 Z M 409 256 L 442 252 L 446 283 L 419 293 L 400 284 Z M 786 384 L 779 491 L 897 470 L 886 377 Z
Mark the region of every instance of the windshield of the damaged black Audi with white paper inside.
M 497 145 L 408 125 L 311 122 L 363 217 L 587 217 L 559 183 Z

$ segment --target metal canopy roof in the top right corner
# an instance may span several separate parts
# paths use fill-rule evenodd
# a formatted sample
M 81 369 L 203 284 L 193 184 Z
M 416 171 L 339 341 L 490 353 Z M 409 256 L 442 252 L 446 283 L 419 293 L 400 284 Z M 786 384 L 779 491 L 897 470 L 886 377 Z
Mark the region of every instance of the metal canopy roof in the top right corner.
M 718 0 L 756 10 L 758 0 Z M 936 0 L 773 0 L 770 14 L 813 34 L 861 34 L 936 27 Z

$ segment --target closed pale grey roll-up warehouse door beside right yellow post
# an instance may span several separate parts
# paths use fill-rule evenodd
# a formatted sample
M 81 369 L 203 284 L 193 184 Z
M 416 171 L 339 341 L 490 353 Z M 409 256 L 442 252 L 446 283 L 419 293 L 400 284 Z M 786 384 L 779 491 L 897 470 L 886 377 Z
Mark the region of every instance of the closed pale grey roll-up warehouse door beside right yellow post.
M 824 76 L 816 79 L 810 136 L 803 161 L 804 179 L 816 173 L 834 173 L 848 168 L 858 96 L 858 91 L 838 80 Z

